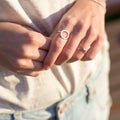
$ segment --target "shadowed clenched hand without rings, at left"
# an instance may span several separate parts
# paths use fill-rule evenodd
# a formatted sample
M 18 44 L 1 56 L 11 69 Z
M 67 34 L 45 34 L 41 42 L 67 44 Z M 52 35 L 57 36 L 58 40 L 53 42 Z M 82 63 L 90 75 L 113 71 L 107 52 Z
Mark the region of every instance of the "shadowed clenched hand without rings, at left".
M 0 65 L 13 72 L 37 76 L 50 40 L 18 24 L 0 23 Z

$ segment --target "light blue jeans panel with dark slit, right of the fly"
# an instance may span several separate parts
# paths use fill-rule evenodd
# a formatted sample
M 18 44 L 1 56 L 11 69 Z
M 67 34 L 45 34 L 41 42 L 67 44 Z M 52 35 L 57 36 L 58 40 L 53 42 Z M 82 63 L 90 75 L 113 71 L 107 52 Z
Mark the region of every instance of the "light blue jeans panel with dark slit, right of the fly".
M 109 59 L 103 58 L 95 76 L 83 90 L 58 105 L 58 120 L 108 120 L 111 106 L 109 95 Z M 103 69 L 104 68 L 104 69 Z

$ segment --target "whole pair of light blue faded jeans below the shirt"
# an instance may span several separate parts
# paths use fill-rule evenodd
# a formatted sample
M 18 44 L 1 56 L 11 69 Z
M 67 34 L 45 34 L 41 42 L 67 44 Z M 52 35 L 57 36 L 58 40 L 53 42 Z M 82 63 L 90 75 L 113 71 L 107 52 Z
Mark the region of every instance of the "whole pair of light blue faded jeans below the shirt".
M 0 120 L 108 120 L 111 99 L 107 69 L 109 58 L 106 56 L 94 77 L 78 93 L 45 109 L 0 114 Z

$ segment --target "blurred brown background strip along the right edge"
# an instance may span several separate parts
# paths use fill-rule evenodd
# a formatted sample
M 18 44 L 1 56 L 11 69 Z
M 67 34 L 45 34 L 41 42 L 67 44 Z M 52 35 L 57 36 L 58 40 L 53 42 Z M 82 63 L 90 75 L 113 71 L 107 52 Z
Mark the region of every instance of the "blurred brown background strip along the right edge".
M 110 42 L 110 120 L 120 120 L 120 0 L 108 0 L 106 31 Z

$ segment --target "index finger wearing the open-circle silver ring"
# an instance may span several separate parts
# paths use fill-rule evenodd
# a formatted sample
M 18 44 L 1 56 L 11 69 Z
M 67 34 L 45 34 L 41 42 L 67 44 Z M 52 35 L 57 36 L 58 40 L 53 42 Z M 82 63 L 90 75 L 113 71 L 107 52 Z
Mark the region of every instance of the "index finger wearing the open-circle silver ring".
M 64 27 L 64 29 L 62 29 Z M 49 69 L 56 61 L 57 57 L 59 56 L 59 54 L 61 53 L 61 51 L 63 50 L 65 44 L 68 42 L 69 38 L 70 38 L 70 35 L 69 33 L 71 32 L 72 26 L 68 26 L 67 24 L 65 25 L 61 25 L 60 27 L 58 27 L 56 30 L 55 30 L 55 33 L 52 38 L 52 41 L 51 41 L 51 45 L 50 45 L 50 49 L 49 49 L 49 52 L 45 58 L 45 61 L 44 61 L 44 69 Z M 66 30 L 67 32 L 63 32 L 61 33 L 60 31 L 62 30 Z M 61 34 L 66 37 L 66 36 L 69 36 L 68 39 L 63 39 L 61 36 Z

